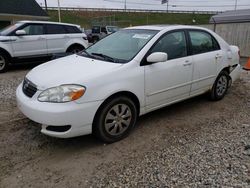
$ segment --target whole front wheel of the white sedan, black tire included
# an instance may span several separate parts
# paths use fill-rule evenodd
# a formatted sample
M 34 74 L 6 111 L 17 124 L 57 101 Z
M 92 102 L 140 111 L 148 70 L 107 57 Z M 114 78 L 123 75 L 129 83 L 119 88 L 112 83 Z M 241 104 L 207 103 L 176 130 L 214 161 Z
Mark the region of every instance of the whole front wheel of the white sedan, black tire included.
M 98 110 L 93 133 L 103 142 L 117 142 L 130 133 L 137 121 L 137 109 L 127 97 L 110 99 Z

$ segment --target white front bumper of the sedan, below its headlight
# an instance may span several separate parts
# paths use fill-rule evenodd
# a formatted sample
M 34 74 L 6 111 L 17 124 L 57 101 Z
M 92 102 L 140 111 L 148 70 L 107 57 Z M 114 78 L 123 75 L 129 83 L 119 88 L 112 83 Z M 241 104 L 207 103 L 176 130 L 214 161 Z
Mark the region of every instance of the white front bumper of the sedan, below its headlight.
M 22 113 L 29 119 L 43 124 L 43 134 L 69 138 L 92 133 L 92 123 L 96 111 L 103 101 L 94 101 L 83 104 L 76 102 L 47 103 L 37 100 L 37 92 L 32 98 L 24 95 L 21 84 L 16 91 L 17 105 Z M 70 125 L 71 128 L 65 132 L 47 130 L 47 126 Z

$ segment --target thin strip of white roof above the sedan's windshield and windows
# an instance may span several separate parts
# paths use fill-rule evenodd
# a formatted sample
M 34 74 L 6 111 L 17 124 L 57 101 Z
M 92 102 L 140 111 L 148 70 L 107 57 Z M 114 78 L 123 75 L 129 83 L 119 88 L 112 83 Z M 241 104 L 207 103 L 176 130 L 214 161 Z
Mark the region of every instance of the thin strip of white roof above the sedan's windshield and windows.
M 126 29 L 147 29 L 147 30 L 173 30 L 173 29 L 202 29 L 207 30 L 203 27 L 191 26 L 191 25 L 143 25 L 143 26 L 134 26 L 128 27 Z

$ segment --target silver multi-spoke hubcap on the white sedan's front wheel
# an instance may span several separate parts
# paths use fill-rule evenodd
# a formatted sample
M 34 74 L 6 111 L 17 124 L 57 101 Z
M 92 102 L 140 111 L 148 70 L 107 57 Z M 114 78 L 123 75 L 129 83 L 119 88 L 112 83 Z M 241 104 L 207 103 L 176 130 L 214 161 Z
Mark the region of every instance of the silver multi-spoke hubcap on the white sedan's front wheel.
M 117 104 L 106 115 L 105 130 L 112 136 L 120 135 L 128 129 L 131 119 L 131 109 L 126 104 Z

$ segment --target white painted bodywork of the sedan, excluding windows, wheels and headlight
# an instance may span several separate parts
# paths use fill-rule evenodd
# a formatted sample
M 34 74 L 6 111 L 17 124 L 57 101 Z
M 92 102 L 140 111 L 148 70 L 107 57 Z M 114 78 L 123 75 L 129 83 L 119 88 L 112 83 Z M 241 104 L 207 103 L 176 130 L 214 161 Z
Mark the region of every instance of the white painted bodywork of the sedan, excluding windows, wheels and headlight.
M 238 48 L 229 46 L 210 30 L 193 26 L 139 26 L 132 29 L 159 32 L 125 64 L 72 55 L 34 68 L 26 78 L 37 85 L 38 91 L 29 98 L 23 94 L 20 84 L 17 101 L 21 111 L 41 124 L 72 125 L 69 131 L 63 133 L 48 131 L 43 125 L 44 134 L 60 138 L 79 136 L 92 132 L 97 110 L 114 94 L 132 93 L 139 101 L 139 115 L 143 115 L 209 91 L 218 74 L 225 68 L 230 69 L 233 82 L 239 77 Z M 148 51 L 163 34 L 180 29 L 210 33 L 218 41 L 220 50 L 144 64 Z M 62 84 L 82 85 L 86 88 L 85 94 L 78 100 L 60 104 L 37 100 L 42 91 Z

